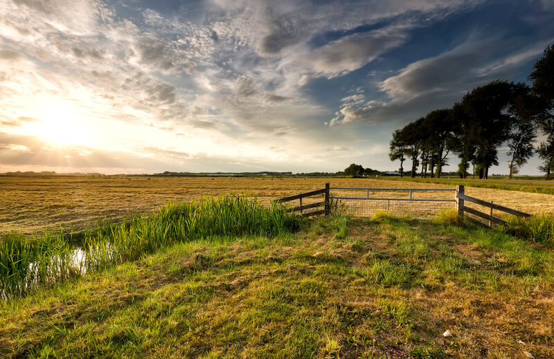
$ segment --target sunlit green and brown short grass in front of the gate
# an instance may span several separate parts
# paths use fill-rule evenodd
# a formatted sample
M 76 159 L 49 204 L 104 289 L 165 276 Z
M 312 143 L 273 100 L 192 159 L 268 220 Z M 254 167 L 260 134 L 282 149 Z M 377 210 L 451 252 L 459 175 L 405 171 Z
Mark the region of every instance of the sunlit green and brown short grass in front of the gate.
M 551 250 L 500 232 L 332 217 L 1 302 L 0 356 L 553 358 L 553 279 Z

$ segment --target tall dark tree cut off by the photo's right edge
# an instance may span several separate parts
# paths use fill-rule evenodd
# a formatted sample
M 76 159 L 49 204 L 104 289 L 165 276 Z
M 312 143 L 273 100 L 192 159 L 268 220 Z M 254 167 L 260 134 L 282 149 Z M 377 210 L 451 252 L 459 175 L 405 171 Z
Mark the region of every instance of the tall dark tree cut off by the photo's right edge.
M 544 49 L 543 56 L 533 66 L 529 75 L 533 81 L 533 93 L 537 95 L 537 122 L 546 135 L 546 142 L 541 142 L 537 152 L 544 162 L 539 169 L 550 178 L 554 158 L 554 45 Z

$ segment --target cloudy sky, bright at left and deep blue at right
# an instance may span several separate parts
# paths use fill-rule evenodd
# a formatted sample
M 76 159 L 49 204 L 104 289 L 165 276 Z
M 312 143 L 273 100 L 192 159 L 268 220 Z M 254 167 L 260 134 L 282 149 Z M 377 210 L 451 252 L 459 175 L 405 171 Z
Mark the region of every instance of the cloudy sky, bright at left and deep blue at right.
M 396 170 L 395 129 L 529 83 L 553 20 L 553 0 L 0 0 L 0 172 Z

